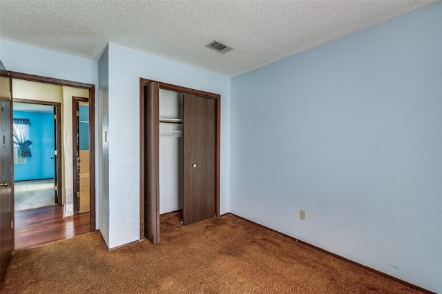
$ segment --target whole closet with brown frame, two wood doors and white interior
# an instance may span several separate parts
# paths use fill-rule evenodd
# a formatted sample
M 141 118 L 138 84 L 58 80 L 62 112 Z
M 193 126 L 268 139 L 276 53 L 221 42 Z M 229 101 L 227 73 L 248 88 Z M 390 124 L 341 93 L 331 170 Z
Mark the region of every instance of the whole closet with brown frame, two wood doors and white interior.
M 157 244 L 160 214 L 220 214 L 220 95 L 140 79 L 140 122 L 140 238 Z

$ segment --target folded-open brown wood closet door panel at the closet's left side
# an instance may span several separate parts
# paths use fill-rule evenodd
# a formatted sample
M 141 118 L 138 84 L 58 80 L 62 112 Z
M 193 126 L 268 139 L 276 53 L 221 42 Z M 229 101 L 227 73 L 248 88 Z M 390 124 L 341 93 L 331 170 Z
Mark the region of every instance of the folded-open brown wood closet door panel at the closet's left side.
M 144 237 L 160 243 L 160 159 L 159 121 L 160 86 L 156 82 L 144 88 Z

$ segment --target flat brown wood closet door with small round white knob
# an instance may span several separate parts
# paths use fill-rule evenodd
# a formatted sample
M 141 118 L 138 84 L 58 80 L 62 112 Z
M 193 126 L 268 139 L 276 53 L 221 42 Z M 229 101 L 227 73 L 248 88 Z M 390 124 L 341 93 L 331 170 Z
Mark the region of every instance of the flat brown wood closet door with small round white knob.
M 183 224 L 215 216 L 216 100 L 183 97 Z

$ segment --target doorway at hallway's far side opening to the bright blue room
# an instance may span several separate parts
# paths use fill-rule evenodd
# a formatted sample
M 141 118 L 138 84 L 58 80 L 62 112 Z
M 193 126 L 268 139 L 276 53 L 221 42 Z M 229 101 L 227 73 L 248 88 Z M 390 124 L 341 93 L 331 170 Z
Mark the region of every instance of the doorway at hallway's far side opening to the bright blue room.
M 15 211 L 61 205 L 61 104 L 14 99 Z

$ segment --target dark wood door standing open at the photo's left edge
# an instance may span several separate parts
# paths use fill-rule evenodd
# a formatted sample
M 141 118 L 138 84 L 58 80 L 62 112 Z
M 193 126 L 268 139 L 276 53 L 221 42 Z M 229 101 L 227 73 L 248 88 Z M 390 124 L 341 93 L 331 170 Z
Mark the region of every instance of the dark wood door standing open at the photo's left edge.
M 10 77 L 0 61 L 0 284 L 11 259 L 13 238 L 12 221 L 12 144 L 11 144 L 11 100 Z

